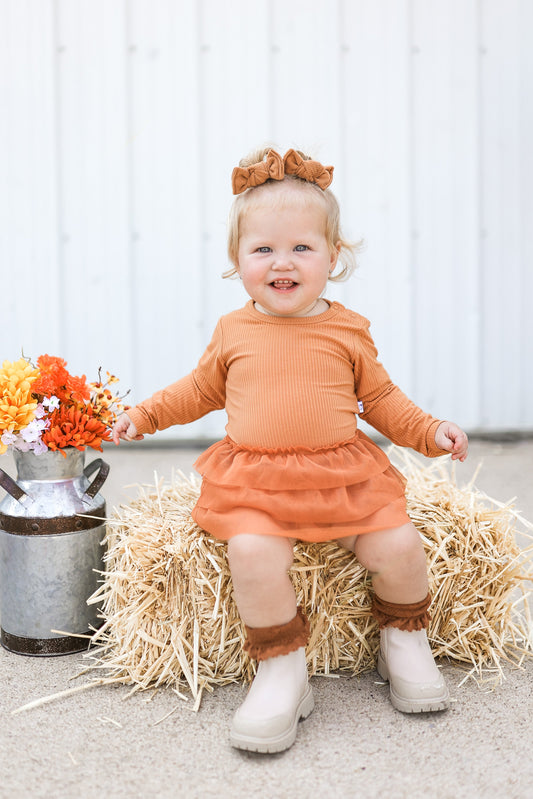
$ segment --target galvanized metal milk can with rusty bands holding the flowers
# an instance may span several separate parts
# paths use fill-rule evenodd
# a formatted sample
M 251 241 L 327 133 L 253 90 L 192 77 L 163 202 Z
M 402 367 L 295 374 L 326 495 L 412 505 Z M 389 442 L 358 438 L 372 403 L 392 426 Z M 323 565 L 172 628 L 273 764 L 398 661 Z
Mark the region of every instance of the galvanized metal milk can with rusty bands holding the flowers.
M 85 452 L 73 447 L 13 455 L 17 481 L 0 469 L 8 492 L 0 503 L 2 645 L 24 655 L 79 652 L 88 641 L 76 635 L 99 626 L 98 606 L 87 599 L 104 568 L 98 491 L 109 466 L 97 458 L 84 469 Z

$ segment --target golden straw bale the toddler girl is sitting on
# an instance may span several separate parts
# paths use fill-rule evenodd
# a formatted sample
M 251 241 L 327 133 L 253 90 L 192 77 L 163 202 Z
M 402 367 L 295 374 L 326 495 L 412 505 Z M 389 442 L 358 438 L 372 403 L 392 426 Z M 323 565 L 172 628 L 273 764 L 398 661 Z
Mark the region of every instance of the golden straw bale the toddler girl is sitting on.
M 393 449 L 407 477 L 409 514 L 422 537 L 433 594 L 428 631 L 436 656 L 487 669 L 501 679 L 502 661 L 531 654 L 525 583 L 531 548 L 515 541 L 517 514 L 472 485 L 459 488 L 449 461 L 429 467 Z M 141 490 L 108 526 L 104 626 L 92 643 L 91 668 L 133 690 L 186 684 L 196 706 L 202 691 L 250 680 L 243 626 L 232 599 L 226 544 L 203 532 L 190 512 L 200 481 L 179 475 Z M 528 523 L 524 523 L 528 525 Z M 311 675 L 374 667 L 378 630 L 370 615 L 370 578 L 334 543 L 295 547 L 291 570 L 298 603 L 311 622 Z M 518 598 L 517 598 L 518 590 Z

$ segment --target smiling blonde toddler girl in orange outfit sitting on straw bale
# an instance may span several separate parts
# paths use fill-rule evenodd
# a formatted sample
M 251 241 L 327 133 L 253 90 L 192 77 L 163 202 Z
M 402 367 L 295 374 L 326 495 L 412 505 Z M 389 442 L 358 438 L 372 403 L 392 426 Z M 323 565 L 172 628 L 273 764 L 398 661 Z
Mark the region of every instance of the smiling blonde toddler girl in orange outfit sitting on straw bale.
M 448 690 L 426 637 L 430 596 L 405 481 L 357 429 L 357 415 L 396 444 L 464 461 L 466 435 L 393 385 L 369 322 L 324 298 L 354 247 L 339 228 L 333 167 L 298 151 L 263 151 L 233 170 L 229 256 L 250 295 L 223 316 L 198 366 L 117 421 L 113 440 L 186 424 L 225 408 L 227 436 L 197 459 L 195 521 L 228 541 L 246 651 L 258 661 L 231 743 L 279 752 L 313 709 L 309 624 L 288 571 L 295 539 L 337 541 L 372 575 L 378 671 L 404 713 L 444 710 Z M 340 264 L 340 268 L 339 268 Z

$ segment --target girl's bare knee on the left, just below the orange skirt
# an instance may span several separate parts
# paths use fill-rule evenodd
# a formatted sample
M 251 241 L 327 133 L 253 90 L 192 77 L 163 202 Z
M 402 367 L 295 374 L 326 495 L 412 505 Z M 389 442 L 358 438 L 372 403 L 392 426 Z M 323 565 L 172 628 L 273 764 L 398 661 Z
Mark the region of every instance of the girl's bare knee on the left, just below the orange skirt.
M 265 573 L 287 572 L 293 562 L 293 546 L 286 538 L 265 535 L 236 535 L 228 542 L 230 571 L 249 580 Z

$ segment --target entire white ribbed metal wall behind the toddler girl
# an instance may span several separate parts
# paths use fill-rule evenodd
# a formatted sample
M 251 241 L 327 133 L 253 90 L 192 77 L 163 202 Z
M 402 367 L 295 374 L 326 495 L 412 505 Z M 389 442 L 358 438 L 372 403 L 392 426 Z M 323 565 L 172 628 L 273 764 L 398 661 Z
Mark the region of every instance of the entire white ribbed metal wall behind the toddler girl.
M 231 169 L 298 145 L 365 240 L 330 296 L 393 379 L 533 430 L 532 31 L 528 0 L 0 0 L 2 358 L 102 365 L 133 401 L 185 374 L 246 299 Z

